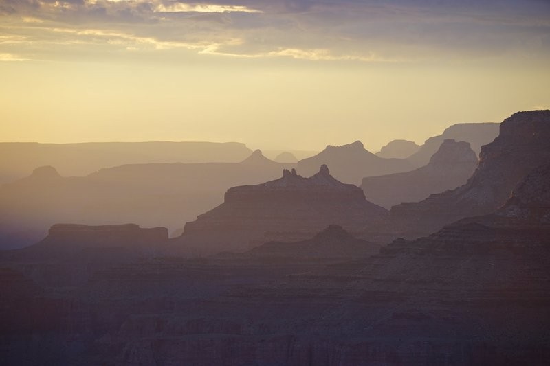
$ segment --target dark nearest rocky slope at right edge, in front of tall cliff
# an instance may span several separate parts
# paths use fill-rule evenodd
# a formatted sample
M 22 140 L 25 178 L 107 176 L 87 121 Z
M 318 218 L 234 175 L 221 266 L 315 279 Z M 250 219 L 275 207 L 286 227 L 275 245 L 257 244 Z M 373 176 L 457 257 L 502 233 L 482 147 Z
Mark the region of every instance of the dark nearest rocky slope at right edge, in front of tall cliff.
M 395 240 L 384 252 L 472 255 L 498 250 L 532 251 L 549 246 L 550 163 L 545 163 L 531 170 L 505 205 L 492 214 L 463 218 L 412 242 Z

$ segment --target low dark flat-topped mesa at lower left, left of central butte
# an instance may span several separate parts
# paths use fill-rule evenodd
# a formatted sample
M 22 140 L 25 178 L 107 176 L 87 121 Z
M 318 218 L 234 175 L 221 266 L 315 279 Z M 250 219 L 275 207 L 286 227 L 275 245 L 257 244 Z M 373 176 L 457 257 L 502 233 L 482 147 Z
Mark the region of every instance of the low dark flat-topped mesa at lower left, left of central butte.
M 89 226 L 56 224 L 40 243 L 43 247 L 71 244 L 76 247 L 126 247 L 168 240 L 166 227 L 142 228 L 135 224 Z

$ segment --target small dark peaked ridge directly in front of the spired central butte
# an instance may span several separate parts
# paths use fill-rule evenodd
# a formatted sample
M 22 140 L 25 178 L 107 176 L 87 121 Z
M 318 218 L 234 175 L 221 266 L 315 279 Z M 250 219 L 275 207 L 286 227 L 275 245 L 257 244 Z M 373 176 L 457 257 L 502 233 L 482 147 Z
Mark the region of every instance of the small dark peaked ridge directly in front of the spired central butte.
M 377 254 L 380 245 L 353 237 L 339 225 L 330 225 L 311 239 L 300 242 L 267 242 L 243 253 L 248 258 L 342 259 Z

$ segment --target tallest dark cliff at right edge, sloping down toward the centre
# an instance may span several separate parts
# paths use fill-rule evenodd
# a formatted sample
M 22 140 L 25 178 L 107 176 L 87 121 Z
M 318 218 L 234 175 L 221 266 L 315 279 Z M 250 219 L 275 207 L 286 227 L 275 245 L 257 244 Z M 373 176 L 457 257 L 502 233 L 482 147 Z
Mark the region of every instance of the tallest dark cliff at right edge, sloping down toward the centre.
M 465 185 L 391 209 L 391 226 L 414 238 L 467 216 L 489 214 L 514 186 L 550 160 L 550 111 L 519 112 L 500 125 L 500 135 L 481 148 L 478 167 Z

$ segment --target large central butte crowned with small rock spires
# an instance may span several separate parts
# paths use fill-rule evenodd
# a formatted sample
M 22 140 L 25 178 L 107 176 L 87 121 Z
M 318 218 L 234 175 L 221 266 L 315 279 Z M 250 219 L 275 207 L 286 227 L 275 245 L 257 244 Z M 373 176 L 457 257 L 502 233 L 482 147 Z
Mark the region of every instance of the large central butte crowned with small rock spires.
M 309 178 L 283 170 L 280 179 L 230 188 L 224 203 L 188 222 L 177 242 L 189 253 L 243 251 L 268 240 L 310 238 L 331 224 L 353 232 L 386 216 L 359 187 L 334 179 L 322 165 Z

